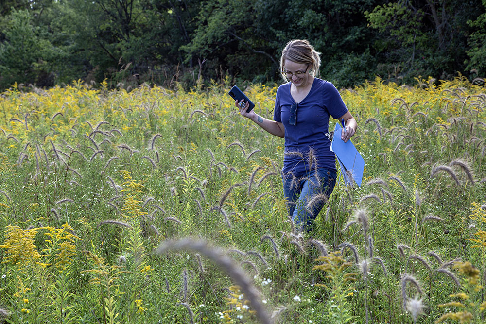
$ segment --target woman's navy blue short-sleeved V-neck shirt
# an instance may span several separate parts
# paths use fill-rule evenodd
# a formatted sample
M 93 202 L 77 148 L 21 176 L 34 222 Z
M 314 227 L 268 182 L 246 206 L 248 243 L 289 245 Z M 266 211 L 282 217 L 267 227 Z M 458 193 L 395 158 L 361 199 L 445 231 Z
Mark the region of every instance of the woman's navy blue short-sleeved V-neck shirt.
M 298 151 L 304 159 L 298 155 L 285 155 L 282 172 L 292 172 L 295 176 L 308 174 L 310 148 L 313 149 L 318 168 L 336 171 L 334 152 L 330 151 L 331 142 L 325 134 L 328 133 L 329 116 L 338 119 L 347 113 L 339 91 L 332 83 L 314 78 L 311 91 L 298 102 L 294 126 L 289 124 L 289 117 L 293 115 L 290 107 L 297 102 L 290 94 L 290 86 L 291 82 L 288 82 L 277 89 L 274 120 L 281 122 L 285 128 L 284 153 Z M 314 168 L 314 165 L 311 167 Z

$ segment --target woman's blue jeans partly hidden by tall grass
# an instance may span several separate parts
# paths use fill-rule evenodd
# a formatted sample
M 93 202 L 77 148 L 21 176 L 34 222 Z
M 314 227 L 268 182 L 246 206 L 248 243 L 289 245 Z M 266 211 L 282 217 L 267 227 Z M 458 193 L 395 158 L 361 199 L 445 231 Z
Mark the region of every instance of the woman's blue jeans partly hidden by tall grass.
M 287 200 L 289 216 L 301 231 L 312 230 L 312 221 L 326 204 L 324 200 L 320 200 L 313 204 L 311 209 L 307 209 L 307 203 L 318 194 L 325 194 L 329 198 L 334 189 L 335 180 L 336 172 L 325 168 L 312 170 L 308 175 L 302 177 L 296 177 L 292 173 L 283 175 L 283 192 Z

